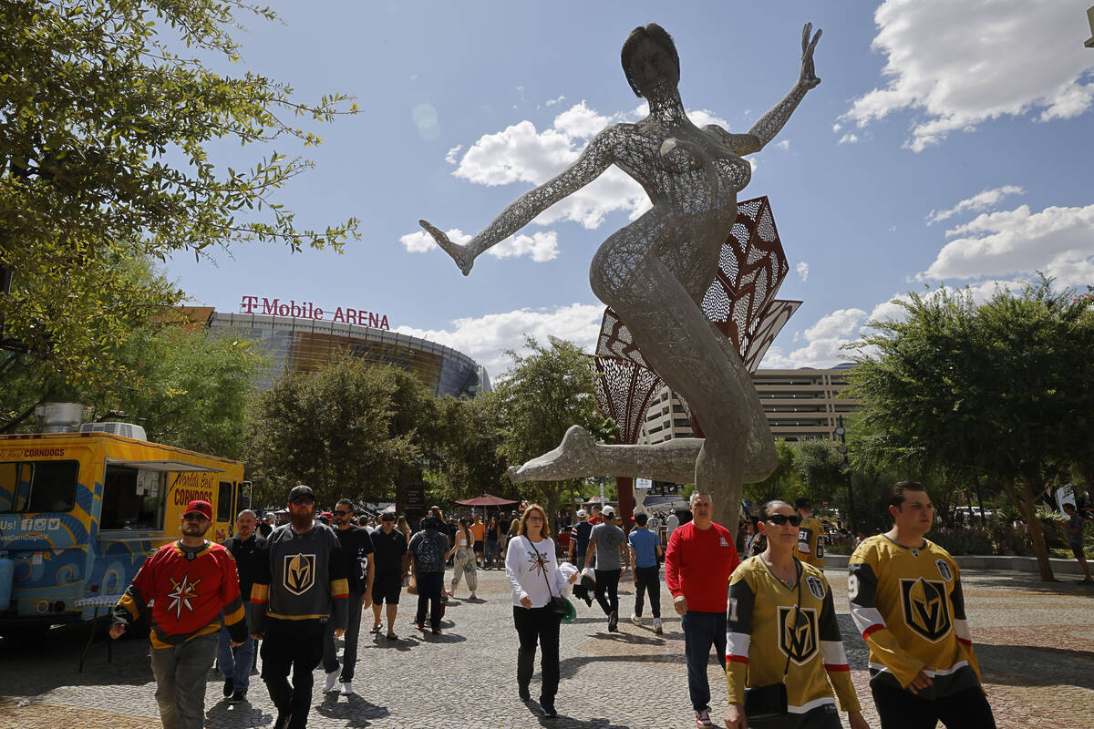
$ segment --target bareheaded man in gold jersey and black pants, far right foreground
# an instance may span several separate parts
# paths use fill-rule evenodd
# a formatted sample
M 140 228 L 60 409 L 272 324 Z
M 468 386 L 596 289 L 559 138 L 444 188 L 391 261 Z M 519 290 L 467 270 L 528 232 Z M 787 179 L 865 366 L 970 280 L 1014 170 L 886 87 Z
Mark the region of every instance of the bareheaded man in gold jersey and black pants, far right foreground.
M 923 486 L 889 489 L 893 528 L 848 564 L 851 616 L 870 647 L 882 729 L 994 729 L 965 619 L 957 564 L 923 538 L 934 508 Z

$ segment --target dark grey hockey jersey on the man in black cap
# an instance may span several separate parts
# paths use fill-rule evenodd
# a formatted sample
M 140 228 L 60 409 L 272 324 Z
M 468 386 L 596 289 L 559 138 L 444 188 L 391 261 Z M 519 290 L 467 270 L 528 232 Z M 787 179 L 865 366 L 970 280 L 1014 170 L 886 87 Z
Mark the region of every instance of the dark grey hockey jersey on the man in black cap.
M 265 633 L 268 620 L 329 622 L 346 627 L 349 583 L 341 544 L 330 527 L 316 522 L 299 534 L 292 525 L 266 539 L 251 588 L 251 632 Z

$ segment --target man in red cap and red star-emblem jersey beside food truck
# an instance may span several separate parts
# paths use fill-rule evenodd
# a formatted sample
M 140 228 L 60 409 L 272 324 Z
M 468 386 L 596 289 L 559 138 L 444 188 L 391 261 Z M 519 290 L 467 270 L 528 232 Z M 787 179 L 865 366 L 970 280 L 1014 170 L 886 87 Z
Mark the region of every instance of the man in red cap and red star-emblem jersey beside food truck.
M 152 675 L 167 729 L 205 726 L 206 675 L 217 654 L 221 611 L 231 644 L 242 645 L 247 637 L 235 560 L 205 538 L 210 526 L 212 505 L 190 502 L 183 513 L 183 538 L 146 560 L 114 608 L 110 637 L 118 638 L 152 602 Z

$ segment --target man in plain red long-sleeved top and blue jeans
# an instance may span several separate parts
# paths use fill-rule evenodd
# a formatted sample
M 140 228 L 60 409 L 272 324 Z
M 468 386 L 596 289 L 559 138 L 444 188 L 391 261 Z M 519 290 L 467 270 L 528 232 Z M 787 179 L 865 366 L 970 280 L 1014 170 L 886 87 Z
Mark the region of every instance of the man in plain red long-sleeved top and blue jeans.
M 710 494 L 695 492 L 689 502 L 691 521 L 673 530 L 665 552 L 665 584 L 673 608 L 682 615 L 687 687 L 697 727 L 712 727 L 707 663 L 710 647 L 725 667 L 725 607 L 730 575 L 741 563 L 733 534 L 711 521 Z

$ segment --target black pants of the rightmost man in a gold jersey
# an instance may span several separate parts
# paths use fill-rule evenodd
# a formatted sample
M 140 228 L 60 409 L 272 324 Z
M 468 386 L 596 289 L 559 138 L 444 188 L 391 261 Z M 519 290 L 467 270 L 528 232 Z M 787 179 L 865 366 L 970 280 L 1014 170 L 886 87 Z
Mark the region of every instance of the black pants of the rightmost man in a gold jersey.
M 996 719 L 984 690 L 967 689 L 928 701 L 905 689 L 870 685 L 882 729 L 934 729 L 942 721 L 948 729 L 996 729 Z

